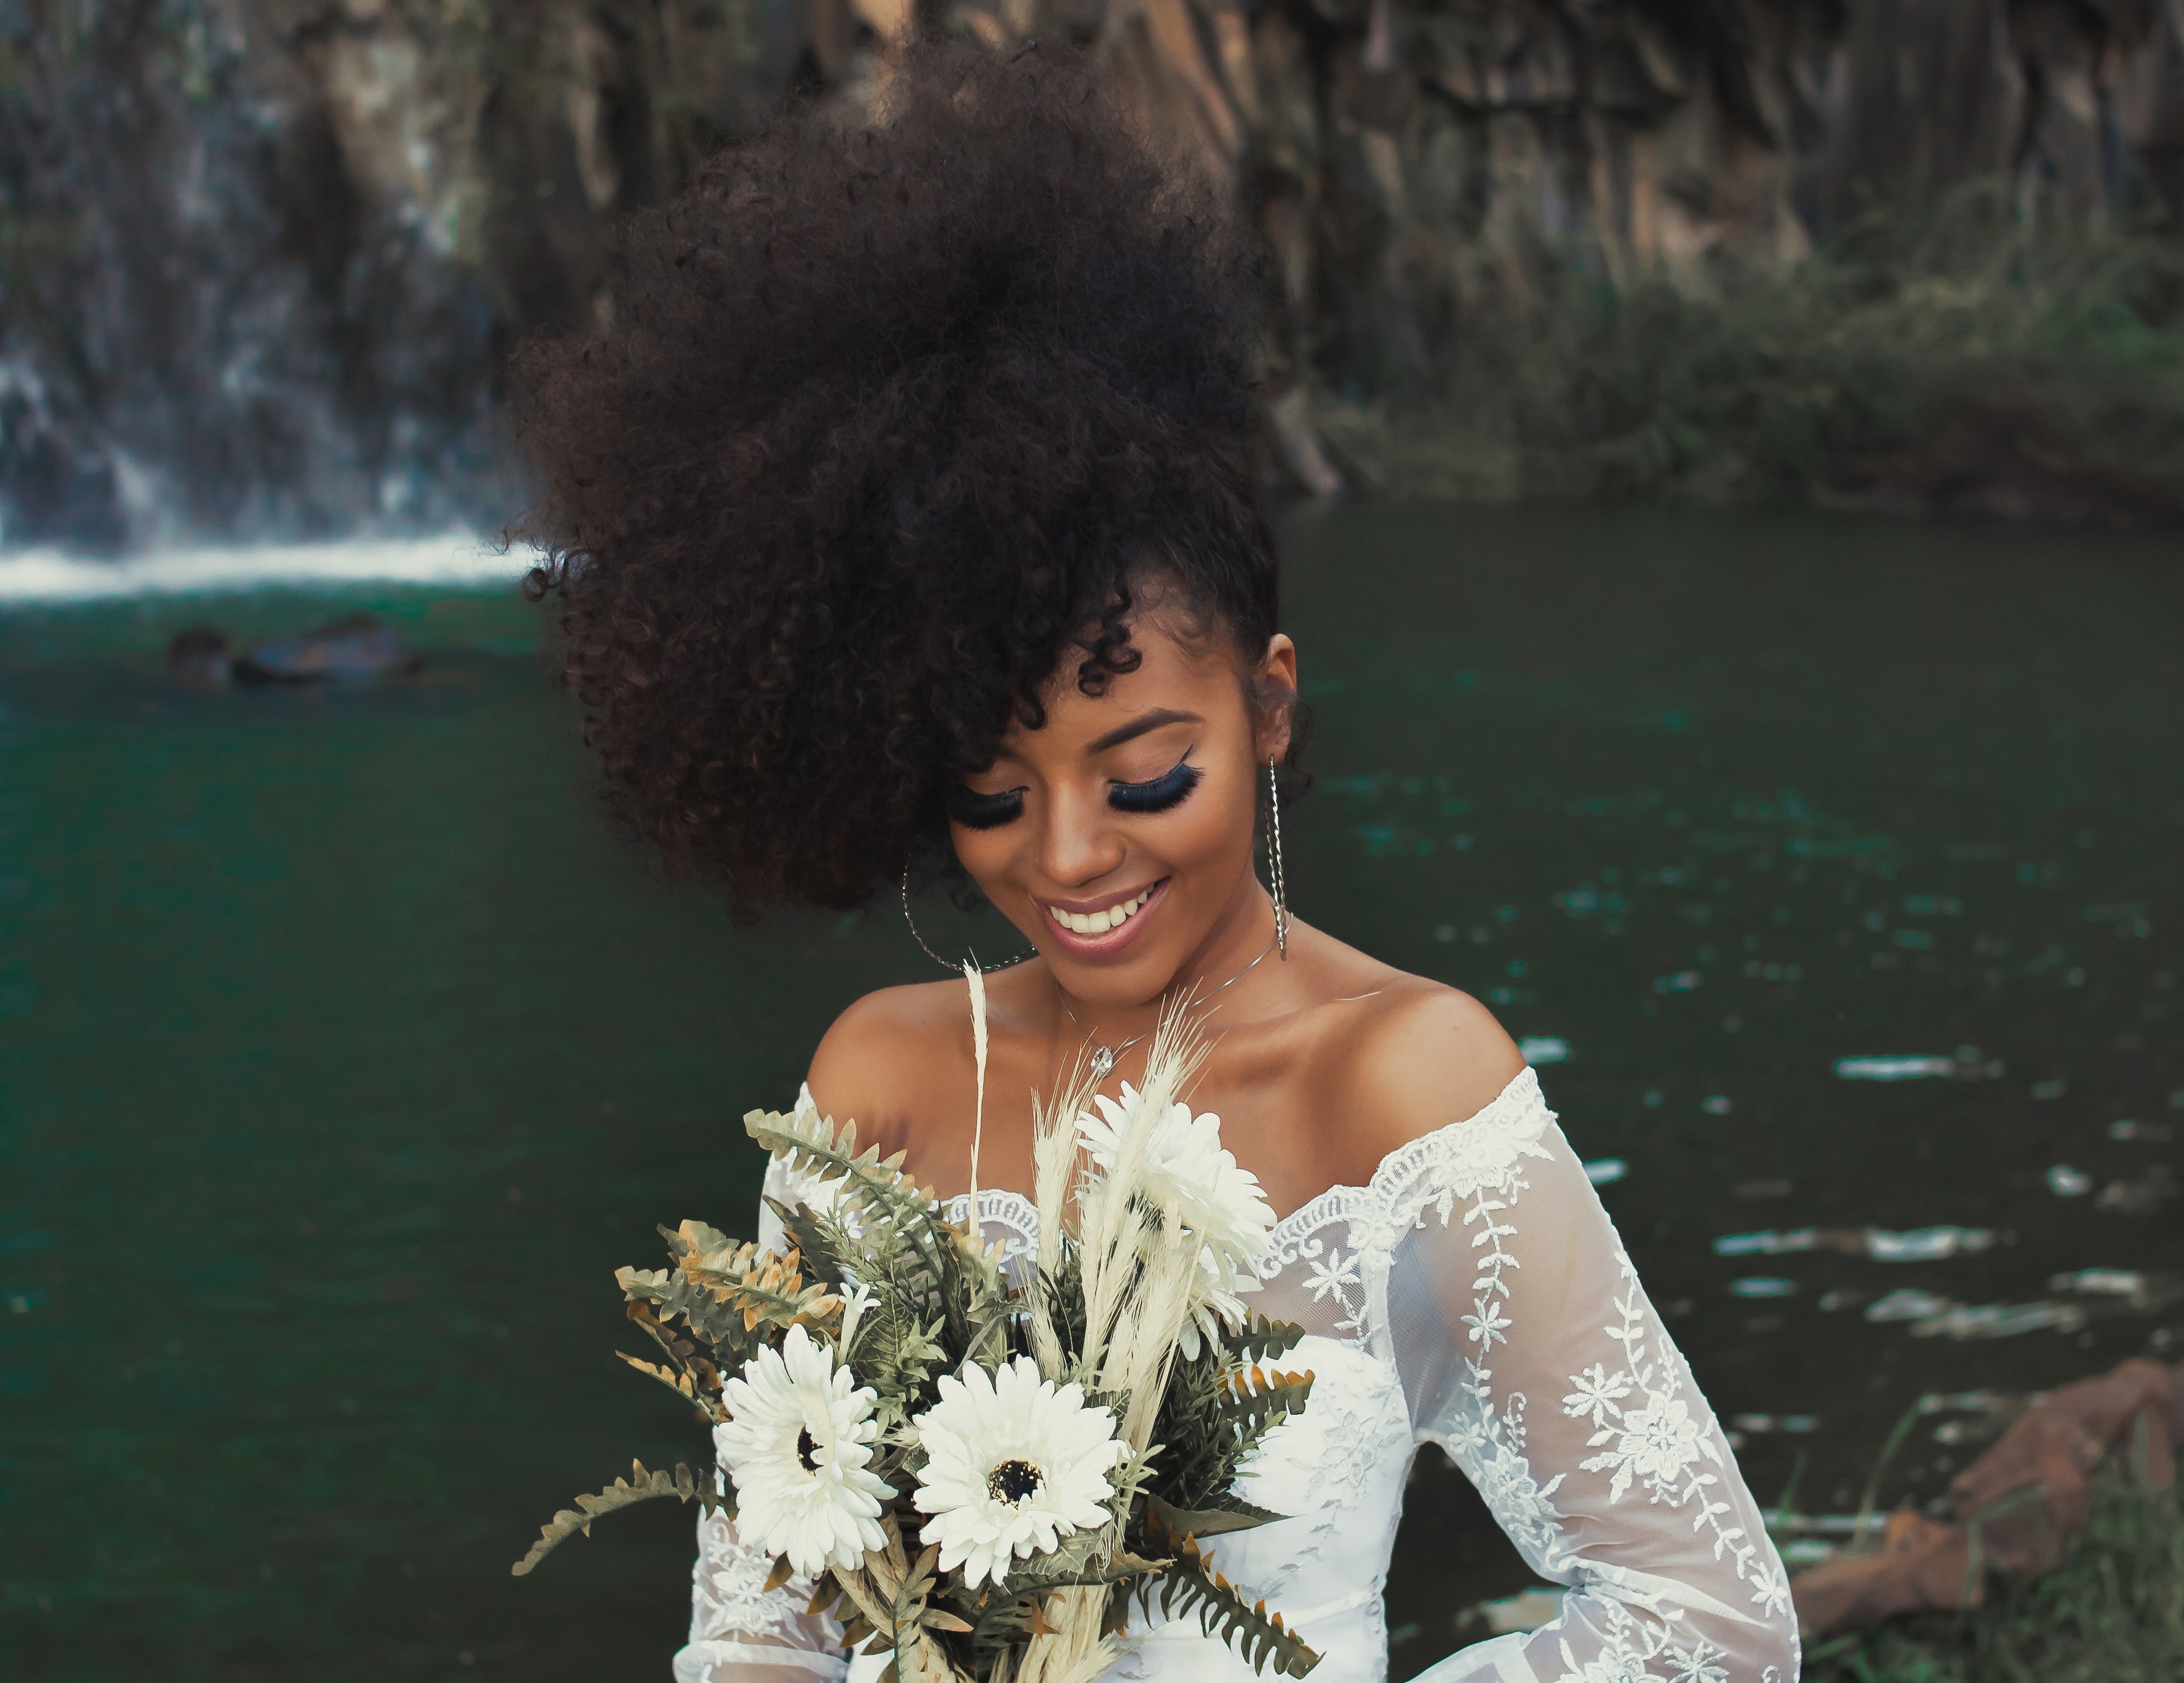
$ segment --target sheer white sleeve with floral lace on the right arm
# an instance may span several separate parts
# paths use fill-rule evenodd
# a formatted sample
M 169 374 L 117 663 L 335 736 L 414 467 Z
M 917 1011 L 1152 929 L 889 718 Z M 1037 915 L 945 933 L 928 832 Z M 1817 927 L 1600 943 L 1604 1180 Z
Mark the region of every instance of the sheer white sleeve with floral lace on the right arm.
M 1415 1434 L 1570 1587 L 1553 1624 L 1426 1676 L 1791 1683 L 1789 1576 L 1538 1083 L 1406 1155 L 1363 1270 L 1369 1340 Z

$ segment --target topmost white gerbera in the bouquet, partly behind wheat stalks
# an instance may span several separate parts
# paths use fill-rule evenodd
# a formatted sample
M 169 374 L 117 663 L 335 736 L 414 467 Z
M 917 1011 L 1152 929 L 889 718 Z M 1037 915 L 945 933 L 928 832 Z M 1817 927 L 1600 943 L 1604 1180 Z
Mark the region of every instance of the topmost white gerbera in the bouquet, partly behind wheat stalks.
M 1099 1115 L 1077 1118 L 1077 1142 L 1112 1174 L 1138 1091 L 1125 1081 L 1120 1102 L 1105 1094 L 1094 1094 L 1092 1102 Z M 1221 1118 L 1210 1111 L 1195 1118 L 1182 1100 L 1153 1122 L 1140 1174 L 1144 1194 L 1203 1246 L 1190 1321 L 1179 1338 L 1184 1356 L 1197 1358 L 1199 1334 L 1214 1338 L 1223 1321 L 1243 1323 L 1241 1294 L 1258 1290 L 1258 1277 L 1245 1266 L 1267 1255 L 1273 1207 L 1258 1177 L 1221 1148 Z

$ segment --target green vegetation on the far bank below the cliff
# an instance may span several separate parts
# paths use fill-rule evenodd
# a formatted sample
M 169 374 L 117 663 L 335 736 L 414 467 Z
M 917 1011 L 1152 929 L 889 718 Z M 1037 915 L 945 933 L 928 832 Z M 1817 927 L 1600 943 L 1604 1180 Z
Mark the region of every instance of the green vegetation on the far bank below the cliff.
M 1472 498 L 2184 515 L 2184 240 L 2025 218 L 1998 183 L 1876 205 L 1778 273 L 1566 273 L 1461 338 L 1431 406 L 1321 415 L 1350 467 Z

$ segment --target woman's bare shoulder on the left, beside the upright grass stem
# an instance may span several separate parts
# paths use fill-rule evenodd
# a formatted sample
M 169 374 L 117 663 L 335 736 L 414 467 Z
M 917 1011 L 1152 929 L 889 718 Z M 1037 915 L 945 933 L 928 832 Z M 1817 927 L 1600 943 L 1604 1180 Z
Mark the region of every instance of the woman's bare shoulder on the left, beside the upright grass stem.
M 968 1057 L 961 982 L 882 987 L 826 1030 L 812 1052 L 812 1102 L 836 1122 L 856 1120 L 863 1139 L 895 1148 L 913 1122 L 909 1105 L 963 1085 Z

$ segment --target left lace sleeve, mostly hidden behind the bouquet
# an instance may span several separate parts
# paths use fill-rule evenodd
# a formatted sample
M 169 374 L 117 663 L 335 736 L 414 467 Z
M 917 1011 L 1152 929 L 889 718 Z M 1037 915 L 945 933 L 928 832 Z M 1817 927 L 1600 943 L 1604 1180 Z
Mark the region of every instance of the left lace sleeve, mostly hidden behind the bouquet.
M 812 1196 L 780 1161 L 767 1166 L 767 1192 L 782 1203 Z M 760 1244 L 780 1249 L 780 1218 L 764 1205 Z M 690 1572 L 690 1642 L 675 1655 L 675 1683 L 836 1683 L 847 1676 L 841 1626 L 810 1615 L 812 1585 L 791 1578 L 767 1594 L 773 1561 L 738 1541 L 732 1519 L 701 1515 L 697 1567 Z

